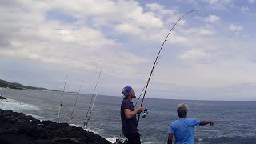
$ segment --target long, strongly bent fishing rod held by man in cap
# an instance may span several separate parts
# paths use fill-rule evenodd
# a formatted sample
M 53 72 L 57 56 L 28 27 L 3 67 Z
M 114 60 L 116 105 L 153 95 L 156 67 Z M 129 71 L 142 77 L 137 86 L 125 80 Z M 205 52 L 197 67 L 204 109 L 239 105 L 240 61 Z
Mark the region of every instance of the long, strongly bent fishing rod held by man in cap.
M 191 10 L 191 11 L 187 12 L 186 14 L 190 14 L 190 13 L 192 13 L 192 12 L 194 12 L 194 11 L 196 11 L 196 10 Z M 146 90 L 147 90 L 147 87 L 149 86 L 150 78 L 151 78 L 151 76 L 152 76 L 152 74 L 153 74 L 154 67 L 156 66 L 156 63 L 157 63 L 157 61 L 158 61 L 158 57 L 159 57 L 159 55 L 160 55 L 160 53 L 161 53 L 162 47 L 163 47 L 164 44 L 166 43 L 167 38 L 168 38 L 168 36 L 170 35 L 170 32 L 171 32 L 172 30 L 174 30 L 174 27 L 178 24 L 178 22 L 179 22 L 183 17 L 186 16 L 186 14 L 183 14 L 182 17 L 179 18 L 177 22 L 175 22 L 174 26 L 170 29 L 169 33 L 167 34 L 166 39 L 165 39 L 164 42 L 162 43 L 162 46 L 160 47 L 160 50 L 158 51 L 157 58 L 155 58 L 155 60 L 154 60 L 154 65 L 152 66 L 152 69 L 151 69 L 151 72 L 150 72 L 150 76 L 149 76 L 149 78 L 148 78 L 148 80 L 147 80 L 147 82 L 146 82 L 146 88 L 145 88 L 145 91 L 144 91 L 144 94 L 143 94 L 141 107 L 143 106 L 144 98 L 145 98 L 145 95 L 146 95 Z M 141 114 L 138 114 L 137 122 L 139 122 L 140 115 L 141 115 Z

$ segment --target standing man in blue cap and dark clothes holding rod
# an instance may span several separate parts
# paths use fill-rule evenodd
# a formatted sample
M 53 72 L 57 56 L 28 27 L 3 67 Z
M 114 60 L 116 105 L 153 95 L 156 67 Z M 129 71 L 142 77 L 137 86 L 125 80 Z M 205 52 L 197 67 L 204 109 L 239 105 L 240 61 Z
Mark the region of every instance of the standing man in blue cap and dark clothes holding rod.
M 136 98 L 135 91 L 131 86 L 126 86 L 122 89 L 124 96 L 121 105 L 121 120 L 122 120 L 122 133 L 130 144 L 140 144 L 140 134 L 138 133 L 138 122 L 136 114 L 142 112 L 143 108 L 138 107 L 134 110 L 134 104 L 131 102 L 133 98 Z

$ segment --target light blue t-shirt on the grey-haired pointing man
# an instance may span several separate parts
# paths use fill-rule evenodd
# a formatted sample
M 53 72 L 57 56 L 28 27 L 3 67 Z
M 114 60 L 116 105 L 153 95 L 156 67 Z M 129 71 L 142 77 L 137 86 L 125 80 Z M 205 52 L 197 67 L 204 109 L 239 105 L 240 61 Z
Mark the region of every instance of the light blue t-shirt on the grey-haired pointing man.
M 176 144 L 194 144 L 194 126 L 199 124 L 195 118 L 179 118 L 170 124 L 169 133 L 174 134 Z

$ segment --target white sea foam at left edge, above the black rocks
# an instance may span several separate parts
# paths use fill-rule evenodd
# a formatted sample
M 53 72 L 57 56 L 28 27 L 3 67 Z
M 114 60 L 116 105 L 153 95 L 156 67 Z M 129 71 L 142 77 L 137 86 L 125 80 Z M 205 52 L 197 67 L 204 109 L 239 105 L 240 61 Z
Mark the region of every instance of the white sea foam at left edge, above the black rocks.
M 37 106 L 30 105 L 27 103 L 18 102 L 14 99 L 6 98 L 0 101 L 0 109 L 2 110 L 13 110 L 20 112 L 21 110 L 39 110 Z

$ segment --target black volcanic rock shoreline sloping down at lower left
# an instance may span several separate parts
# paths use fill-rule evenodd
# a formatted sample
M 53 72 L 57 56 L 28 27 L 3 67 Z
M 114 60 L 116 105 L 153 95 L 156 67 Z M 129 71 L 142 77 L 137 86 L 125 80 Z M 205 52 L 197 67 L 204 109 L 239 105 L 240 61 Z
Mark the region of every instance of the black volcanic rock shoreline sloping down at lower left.
M 83 143 L 110 144 L 111 142 L 82 127 L 67 123 L 39 121 L 32 116 L 0 109 L 0 143 Z

